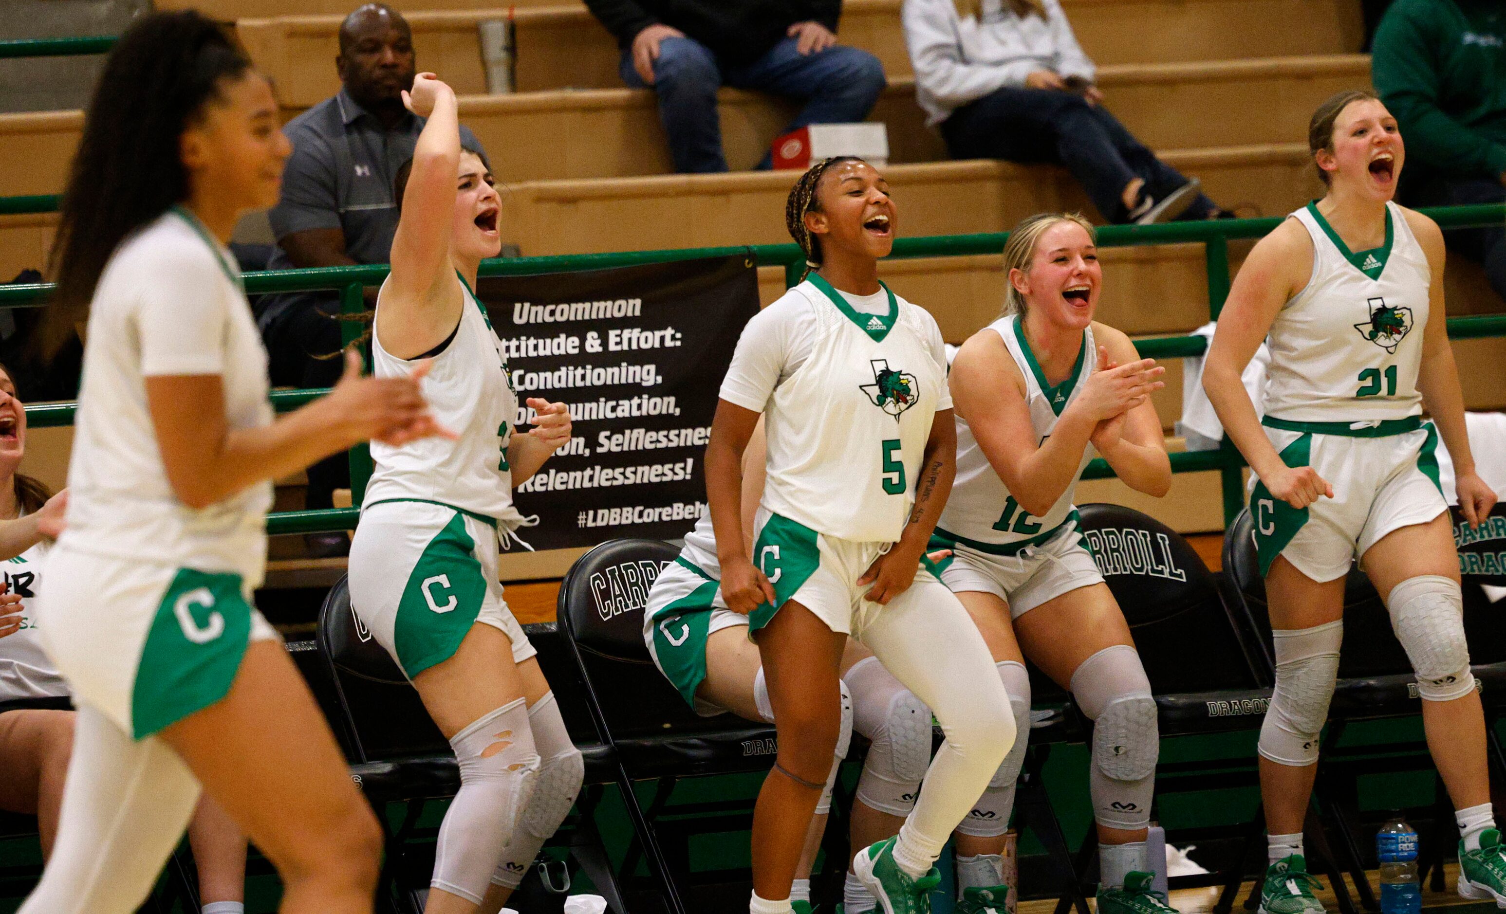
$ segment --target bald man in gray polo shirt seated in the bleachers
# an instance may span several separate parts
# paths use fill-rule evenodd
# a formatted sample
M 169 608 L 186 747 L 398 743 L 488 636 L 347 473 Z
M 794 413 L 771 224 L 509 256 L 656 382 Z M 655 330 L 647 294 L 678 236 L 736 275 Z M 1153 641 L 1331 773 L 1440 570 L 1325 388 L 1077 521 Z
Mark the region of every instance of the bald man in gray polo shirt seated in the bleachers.
M 277 250 L 271 270 L 386 264 L 398 230 L 393 178 L 423 129 L 423 117 L 402 105 L 413 86 L 413 32 L 402 14 L 384 3 L 366 3 L 340 24 L 340 54 L 334 59 L 342 89 L 283 131 L 292 157 L 283 172 L 282 199 L 271 211 Z M 461 140 L 480 149 L 461 126 Z M 334 292 L 267 295 L 258 327 L 271 357 L 274 385 L 331 387 L 343 361 L 340 310 Z M 309 467 L 307 507 L 331 507 L 336 488 L 349 485 L 345 455 Z M 312 535 L 316 554 L 348 548 L 343 533 Z

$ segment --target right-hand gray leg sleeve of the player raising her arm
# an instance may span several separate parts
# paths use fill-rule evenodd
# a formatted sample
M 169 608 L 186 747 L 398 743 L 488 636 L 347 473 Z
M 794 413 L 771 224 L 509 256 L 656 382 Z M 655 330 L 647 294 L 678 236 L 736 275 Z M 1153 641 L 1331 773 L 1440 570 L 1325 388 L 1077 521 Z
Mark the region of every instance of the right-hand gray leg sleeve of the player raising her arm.
M 547 693 L 529 708 L 529 726 L 533 730 L 533 745 L 544 760 L 533 780 L 533 795 L 503 845 L 501 861 L 491 876 L 494 884 L 509 888 L 517 888 L 523 881 L 544 842 L 559 830 L 575 806 L 575 797 L 586 780 L 586 760 L 571 742 L 554 693 Z

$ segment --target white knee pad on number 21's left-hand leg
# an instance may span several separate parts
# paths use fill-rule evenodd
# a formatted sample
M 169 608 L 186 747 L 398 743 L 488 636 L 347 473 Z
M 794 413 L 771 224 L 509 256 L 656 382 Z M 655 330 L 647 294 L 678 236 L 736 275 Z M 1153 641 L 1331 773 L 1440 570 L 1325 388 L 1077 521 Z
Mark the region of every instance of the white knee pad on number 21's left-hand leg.
M 1339 679 L 1343 620 L 1312 628 L 1276 629 L 1276 691 L 1261 723 L 1261 756 L 1306 768 L 1318 762 L 1328 702 Z

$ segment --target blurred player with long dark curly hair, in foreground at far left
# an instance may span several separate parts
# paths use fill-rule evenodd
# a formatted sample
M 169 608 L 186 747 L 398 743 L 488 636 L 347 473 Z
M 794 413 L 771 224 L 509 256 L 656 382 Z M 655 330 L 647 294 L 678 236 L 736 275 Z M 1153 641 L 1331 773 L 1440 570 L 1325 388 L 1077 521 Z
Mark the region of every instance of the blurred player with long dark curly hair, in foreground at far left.
M 48 339 L 87 316 L 68 530 L 39 631 L 78 706 L 53 855 L 26 914 L 127 914 L 200 785 L 277 866 L 283 911 L 369 914 L 380 833 L 276 632 L 252 607 L 273 479 L 435 431 L 411 378 L 358 378 L 274 420 L 224 247 L 277 202 L 271 86 L 196 12 L 110 54 L 63 196 Z

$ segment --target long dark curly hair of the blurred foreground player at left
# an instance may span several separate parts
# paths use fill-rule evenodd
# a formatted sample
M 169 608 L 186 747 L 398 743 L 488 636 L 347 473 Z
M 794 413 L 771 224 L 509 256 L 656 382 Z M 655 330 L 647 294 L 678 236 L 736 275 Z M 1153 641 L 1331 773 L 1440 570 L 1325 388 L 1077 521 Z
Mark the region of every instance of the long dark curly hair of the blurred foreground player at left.
M 229 30 L 194 11 L 142 17 L 105 60 L 59 208 L 48 273 L 57 291 L 39 333 L 51 357 L 89 315 L 99 274 L 127 235 L 188 197 L 178 143 L 239 80 L 250 59 Z

